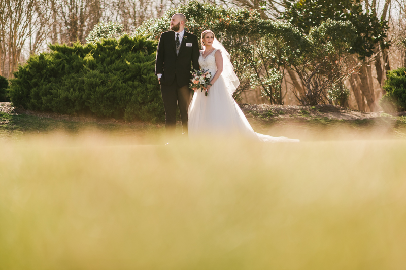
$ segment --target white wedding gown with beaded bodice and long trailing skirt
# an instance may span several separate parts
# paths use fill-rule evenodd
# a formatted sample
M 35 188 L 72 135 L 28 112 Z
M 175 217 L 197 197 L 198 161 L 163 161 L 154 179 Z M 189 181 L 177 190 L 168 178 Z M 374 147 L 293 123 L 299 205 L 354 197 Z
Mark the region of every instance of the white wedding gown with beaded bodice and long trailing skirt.
M 200 52 L 199 65 L 209 70 L 212 76 L 217 71 L 215 49 L 206 58 Z M 188 132 L 190 139 L 202 136 L 242 136 L 262 142 L 298 142 L 286 137 L 272 137 L 256 133 L 239 105 L 227 91 L 222 75 L 209 88 L 208 96 L 197 90 L 192 98 L 188 111 Z

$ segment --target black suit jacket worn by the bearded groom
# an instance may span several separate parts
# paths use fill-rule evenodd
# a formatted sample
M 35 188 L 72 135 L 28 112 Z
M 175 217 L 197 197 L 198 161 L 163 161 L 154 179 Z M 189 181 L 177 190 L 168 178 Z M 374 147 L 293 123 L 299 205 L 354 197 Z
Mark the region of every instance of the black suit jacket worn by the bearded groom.
M 161 84 L 171 85 L 176 81 L 180 87 L 188 85 L 193 69 L 199 70 L 199 43 L 197 36 L 185 30 L 179 54 L 176 55 L 175 32 L 161 34 L 156 52 L 155 75 L 161 73 Z

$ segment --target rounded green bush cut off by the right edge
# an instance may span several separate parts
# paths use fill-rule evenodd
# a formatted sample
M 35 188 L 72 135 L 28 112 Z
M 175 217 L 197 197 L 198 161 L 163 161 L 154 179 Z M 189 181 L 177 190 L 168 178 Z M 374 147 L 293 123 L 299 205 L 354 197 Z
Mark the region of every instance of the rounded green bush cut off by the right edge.
M 386 94 L 379 101 L 385 112 L 406 110 L 406 67 L 390 70 L 384 89 Z

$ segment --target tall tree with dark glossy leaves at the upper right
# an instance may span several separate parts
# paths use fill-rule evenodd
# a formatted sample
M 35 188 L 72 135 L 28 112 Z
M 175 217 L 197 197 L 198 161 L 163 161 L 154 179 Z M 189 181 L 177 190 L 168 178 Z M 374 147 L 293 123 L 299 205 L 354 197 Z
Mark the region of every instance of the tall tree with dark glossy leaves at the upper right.
M 380 52 L 387 50 L 390 42 L 387 40 L 388 21 L 386 12 L 390 0 L 386 0 L 385 7 L 381 18 L 378 18 L 376 12 L 376 3 L 365 3 L 366 10 L 361 0 L 285 0 L 285 12 L 282 13 L 281 19 L 284 19 L 293 25 L 296 25 L 304 34 L 308 34 L 313 26 L 320 25 L 326 19 L 335 21 L 350 21 L 356 31 L 357 38 L 353 43 L 350 53 L 357 54 L 358 58 L 363 61 L 364 65 L 360 67 L 358 75 L 353 75 L 351 86 L 353 92 L 360 91 L 361 95 L 355 94 L 358 107 L 366 98 L 368 107 L 371 111 L 377 110 L 378 104 L 375 100 L 374 83 L 371 78 L 369 63 L 375 60 L 378 81 L 382 82 L 383 74 L 387 68 L 390 68 L 389 58 L 384 57 L 386 65 L 382 68 L 380 64 Z M 370 74 L 370 78 L 369 77 Z

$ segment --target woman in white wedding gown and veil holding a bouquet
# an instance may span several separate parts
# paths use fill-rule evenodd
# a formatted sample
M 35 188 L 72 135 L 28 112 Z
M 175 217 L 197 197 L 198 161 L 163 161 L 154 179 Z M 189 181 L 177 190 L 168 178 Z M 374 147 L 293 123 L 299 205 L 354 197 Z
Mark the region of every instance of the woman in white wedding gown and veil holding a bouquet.
M 212 85 L 207 87 L 207 96 L 204 91 L 194 89 L 188 111 L 189 138 L 239 135 L 263 142 L 298 142 L 286 137 L 259 134 L 252 129 L 232 97 L 240 81 L 234 73 L 230 55 L 211 30 L 201 33 L 201 43 L 204 50 L 200 51 L 199 65 L 211 73 Z

